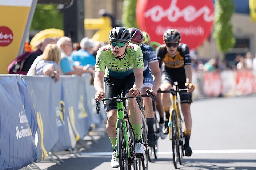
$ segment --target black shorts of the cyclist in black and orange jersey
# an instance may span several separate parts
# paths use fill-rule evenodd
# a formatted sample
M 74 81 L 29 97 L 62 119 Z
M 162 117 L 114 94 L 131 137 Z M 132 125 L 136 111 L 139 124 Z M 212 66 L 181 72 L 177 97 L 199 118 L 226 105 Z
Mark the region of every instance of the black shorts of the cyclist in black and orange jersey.
M 185 83 L 186 83 L 186 75 L 185 75 L 185 69 L 179 68 L 179 69 L 168 69 L 163 68 L 162 70 L 162 83 L 168 82 L 171 83 L 173 86 L 173 83 L 177 81 L 179 89 L 185 89 Z M 180 92 L 180 103 L 192 103 L 192 93 L 188 92 Z

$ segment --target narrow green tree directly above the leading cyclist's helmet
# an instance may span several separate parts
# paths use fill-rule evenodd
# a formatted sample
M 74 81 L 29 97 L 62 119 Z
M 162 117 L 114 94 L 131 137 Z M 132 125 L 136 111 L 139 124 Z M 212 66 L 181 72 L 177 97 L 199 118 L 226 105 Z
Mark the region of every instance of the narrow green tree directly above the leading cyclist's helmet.
M 125 28 L 139 28 L 136 20 L 137 0 L 124 0 L 122 23 Z

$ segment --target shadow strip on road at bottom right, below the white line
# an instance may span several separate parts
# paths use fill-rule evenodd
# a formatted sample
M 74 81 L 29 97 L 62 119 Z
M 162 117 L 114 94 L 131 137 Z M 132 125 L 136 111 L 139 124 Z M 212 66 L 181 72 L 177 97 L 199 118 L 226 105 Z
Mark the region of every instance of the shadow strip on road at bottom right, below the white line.
M 153 160 L 157 164 L 166 164 L 171 163 L 172 159 L 170 158 L 160 158 Z M 245 166 L 239 166 L 243 163 Z M 239 164 L 239 165 L 236 165 Z M 181 170 L 255 170 L 256 169 L 256 160 L 231 160 L 231 159 L 183 159 L 183 166 L 178 165 L 178 169 Z

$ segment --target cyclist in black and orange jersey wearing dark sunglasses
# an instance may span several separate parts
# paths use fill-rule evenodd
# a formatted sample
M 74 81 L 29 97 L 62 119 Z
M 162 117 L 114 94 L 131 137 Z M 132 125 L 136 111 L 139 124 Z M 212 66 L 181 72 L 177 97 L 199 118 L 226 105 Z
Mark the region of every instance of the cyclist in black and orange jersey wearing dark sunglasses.
M 180 43 L 181 35 L 176 29 L 168 29 L 163 34 L 164 44 L 156 49 L 156 56 L 159 67 L 162 66 L 162 84 L 161 90 L 170 90 L 173 82 L 178 82 L 179 89 L 188 88 L 188 92 L 180 93 L 181 110 L 184 116 L 184 150 L 186 156 L 191 156 L 192 150 L 189 146 L 189 139 L 192 127 L 192 119 L 190 112 L 190 103 L 192 103 L 191 92 L 195 86 L 191 83 L 192 67 L 189 55 L 189 47 L 187 44 Z M 169 93 L 161 94 L 161 102 L 165 111 L 166 121 L 164 123 L 163 132 L 168 134 L 168 121 L 170 116 L 170 95 Z

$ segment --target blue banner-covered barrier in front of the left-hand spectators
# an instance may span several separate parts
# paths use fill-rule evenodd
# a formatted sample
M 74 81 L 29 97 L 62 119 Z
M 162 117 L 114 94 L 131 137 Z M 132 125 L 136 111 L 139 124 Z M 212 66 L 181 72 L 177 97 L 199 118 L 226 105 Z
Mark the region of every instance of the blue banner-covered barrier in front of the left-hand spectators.
M 48 76 L 0 75 L 0 169 L 74 148 L 88 134 L 95 103 L 87 78 L 61 76 L 56 83 Z

